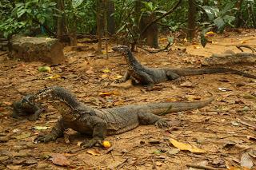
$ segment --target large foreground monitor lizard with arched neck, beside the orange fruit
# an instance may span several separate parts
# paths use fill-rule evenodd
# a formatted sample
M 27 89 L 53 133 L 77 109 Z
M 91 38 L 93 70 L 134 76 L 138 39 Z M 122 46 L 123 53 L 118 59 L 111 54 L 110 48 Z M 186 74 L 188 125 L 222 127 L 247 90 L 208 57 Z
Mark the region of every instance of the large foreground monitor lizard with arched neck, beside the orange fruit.
M 130 131 L 138 125 L 157 125 L 167 127 L 167 121 L 159 117 L 165 113 L 198 109 L 214 100 L 210 97 L 206 101 L 196 102 L 164 102 L 145 105 L 125 105 L 111 109 L 93 109 L 79 102 L 72 93 L 62 87 L 53 86 L 41 89 L 28 99 L 34 105 L 38 101 L 51 101 L 51 105 L 62 114 L 51 132 L 46 136 L 38 136 L 36 141 L 48 142 L 63 136 L 66 128 L 92 135 L 89 142 L 82 143 L 82 147 L 90 148 L 95 144 L 102 144 L 106 135 L 114 135 Z

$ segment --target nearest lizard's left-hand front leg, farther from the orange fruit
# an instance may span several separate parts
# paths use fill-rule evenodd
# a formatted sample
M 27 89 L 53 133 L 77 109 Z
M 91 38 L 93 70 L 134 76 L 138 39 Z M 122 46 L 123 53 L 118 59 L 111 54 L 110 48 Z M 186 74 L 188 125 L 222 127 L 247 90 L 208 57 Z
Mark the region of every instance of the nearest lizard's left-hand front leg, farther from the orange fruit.
M 51 129 L 51 132 L 45 136 L 41 136 L 39 135 L 35 141 L 38 142 L 49 142 L 49 141 L 54 141 L 56 140 L 58 137 L 63 136 L 64 131 L 65 131 L 65 127 L 64 127 L 64 122 L 63 119 L 59 119 L 57 121 L 57 123 L 54 125 L 54 127 Z

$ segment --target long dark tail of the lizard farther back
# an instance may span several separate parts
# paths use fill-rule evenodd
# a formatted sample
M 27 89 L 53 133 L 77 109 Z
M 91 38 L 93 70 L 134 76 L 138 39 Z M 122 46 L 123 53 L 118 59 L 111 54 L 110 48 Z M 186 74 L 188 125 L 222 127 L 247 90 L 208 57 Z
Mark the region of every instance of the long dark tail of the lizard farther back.
M 243 77 L 256 79 L 256 76 L 250 73 L 244 73 L 236 69 L 228 69 L 228 68 L 184 68 L 184 69 L 170 69 L 170 71 L 177 73 L 179 76 L 202 75 L 207 73 L 232 73 L 232 74 L 238 74 Z

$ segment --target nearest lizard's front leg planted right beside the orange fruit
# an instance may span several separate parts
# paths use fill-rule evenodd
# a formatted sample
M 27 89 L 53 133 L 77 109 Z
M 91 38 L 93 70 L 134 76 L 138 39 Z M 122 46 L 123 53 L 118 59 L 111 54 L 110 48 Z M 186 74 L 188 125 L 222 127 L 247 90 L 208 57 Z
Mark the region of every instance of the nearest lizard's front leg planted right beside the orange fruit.
M 82 148 L 91 148 L 95 145 L 102 147 L 102 140 L 106 137 L 106 121 L 103 121 L 99 117 L 89 117 L 88 125 L 92 126 L 93 138 L 87 142 L 82 142 L 80 146 Z

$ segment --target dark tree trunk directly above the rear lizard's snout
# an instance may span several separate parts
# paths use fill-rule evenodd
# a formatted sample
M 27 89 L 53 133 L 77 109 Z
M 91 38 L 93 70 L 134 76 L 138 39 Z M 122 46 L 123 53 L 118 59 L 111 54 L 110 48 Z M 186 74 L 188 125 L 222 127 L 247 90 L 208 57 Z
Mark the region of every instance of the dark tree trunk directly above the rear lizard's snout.
M 113 0 L 107 0 L 107 31 L 109 34 L 115 33 L 115 22 L 114 22 L 114 2 Z

